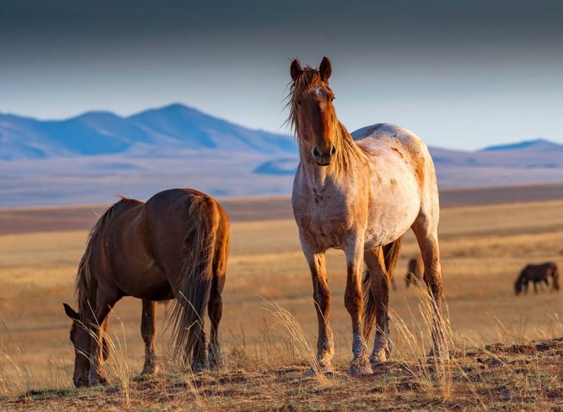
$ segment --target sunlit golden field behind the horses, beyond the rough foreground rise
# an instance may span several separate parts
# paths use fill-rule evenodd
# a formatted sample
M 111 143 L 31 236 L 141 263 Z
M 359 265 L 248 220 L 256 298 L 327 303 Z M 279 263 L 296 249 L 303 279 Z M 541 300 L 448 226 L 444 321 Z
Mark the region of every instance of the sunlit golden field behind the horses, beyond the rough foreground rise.
M 72 387 L 74 354 L 62 302 L 74 306 L 73 281 L 86 239 L 87 231 L 0 236 L 0 397 L 9 400 L 30 390 Z M 526 264 L 553 261 L 563 266 L 563 200 L 445 208 L 440 246 L 452 349 L 563 337 L 563 291 L 552 292 L 544 285 L 537 294 L 530 288 L 516 296 L 513 286 Z M 411 356 L 412 345 L 430 347 L 421 316 L 423 292 L 405 288 L 403 279 L 407 259 L 416 254 L 414 236 L 408 233 L 390 298 L 393 359 Z M 343 252 L 329 252 L 327 269 L 336 368 L 345 373 L 352 356 L 350 319 L 343 304 Z M 304 345 L 291 343 L 281 313 L 303 330 Z M 125 371 L 125 380 L 141 371 L 140 318 L 141 303 L 133 298 L 118 302 L 111 315 L 115 347 L 108 369 L 114 380 L 118 378 L 111 375 L 112 368 Z M 166 363 L 163 307 L 158 318 L 158 351 Z M 303 366 L 303 359 L 306 363 L 314 354 L 316 333 L 310 274 L 296 224 L 291 219 L 233 221 L 220 324 L 224 370 L 251 373 Z M 213 406 L 201 402 L 202 409 Z M 247 407 L 258 407 L 257 402 Z

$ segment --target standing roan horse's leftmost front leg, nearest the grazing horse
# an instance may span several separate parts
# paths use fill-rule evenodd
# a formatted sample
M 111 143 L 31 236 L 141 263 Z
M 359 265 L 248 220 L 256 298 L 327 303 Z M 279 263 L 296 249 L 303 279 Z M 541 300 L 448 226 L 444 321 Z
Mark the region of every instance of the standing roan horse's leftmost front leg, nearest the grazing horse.
M 309 264 L 312 278 L 313 300 L 317 311 L 318 337 L 317 337 L 317 364 L 322 372 L 332 371 L 332 357 L 334 356 L 334 343 L 332 330 L 329 323 L 330 290 L 327 283 L 327 265 L 324 251 L 308 252 L 303 247 L 305 259 Z M 312 371 L 311 371 L 312 372 Z

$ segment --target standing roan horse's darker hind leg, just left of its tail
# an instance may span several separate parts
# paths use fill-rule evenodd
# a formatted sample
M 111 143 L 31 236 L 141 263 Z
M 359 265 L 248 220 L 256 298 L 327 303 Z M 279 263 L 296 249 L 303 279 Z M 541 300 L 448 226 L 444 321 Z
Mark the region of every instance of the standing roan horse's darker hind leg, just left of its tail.
M 373 368 L 379 365 L 379 363 L 387 361 L 389 355 L 391 355 L 388 315 L 389 278 L 381 247 L 377 247 L 377 249 L 372 251 L 366 250 L 364 261 L 369 270 L 371 278 L 369 288 L 376 305 L 374 350 L 369 356 L 369 362 Z

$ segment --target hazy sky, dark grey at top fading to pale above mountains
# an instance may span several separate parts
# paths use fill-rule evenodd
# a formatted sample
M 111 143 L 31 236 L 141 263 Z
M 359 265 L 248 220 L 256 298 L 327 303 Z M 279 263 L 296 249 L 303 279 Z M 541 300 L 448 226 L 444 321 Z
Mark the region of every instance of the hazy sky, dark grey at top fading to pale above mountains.
M 181 102 L 288 133 L 291 58 L 327 56 L 350 131 L 392 122 L 462 149 L 563 143 L 563 1 L 392 3 L 0 0 L 0 112 Z

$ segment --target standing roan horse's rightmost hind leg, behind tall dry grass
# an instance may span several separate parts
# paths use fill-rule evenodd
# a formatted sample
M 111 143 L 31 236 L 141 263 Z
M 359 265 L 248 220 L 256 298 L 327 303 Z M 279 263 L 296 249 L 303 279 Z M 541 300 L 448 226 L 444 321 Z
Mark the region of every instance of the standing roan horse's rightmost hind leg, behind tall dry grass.
M 431 334 L 434 342 L 432 354 L 439 357 L 448 357 L 448 347 L 445 342 L 445 325 L 442 317 L 442 266 L 440 251 L 438 249 L 437 234 L 438 218 L 430 219 L 424 214 L 419 214 L 412 224 L 417 242 L 424 262 L 424 282 L 431 294 L 432 316 Z

